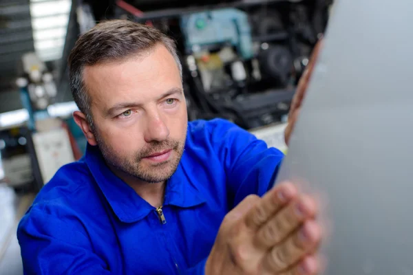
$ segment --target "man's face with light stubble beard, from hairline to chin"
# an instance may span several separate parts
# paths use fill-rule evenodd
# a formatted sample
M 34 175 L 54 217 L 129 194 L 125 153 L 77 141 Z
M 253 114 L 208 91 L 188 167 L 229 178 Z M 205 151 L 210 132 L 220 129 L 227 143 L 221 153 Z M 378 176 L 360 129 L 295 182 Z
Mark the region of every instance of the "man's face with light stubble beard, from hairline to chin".
M 178 66 L 166 47 L 86 67 L 83 77 L 94 140 L 109 166 L 145 182 L 171 177 L 184 150 L 187 107 Z

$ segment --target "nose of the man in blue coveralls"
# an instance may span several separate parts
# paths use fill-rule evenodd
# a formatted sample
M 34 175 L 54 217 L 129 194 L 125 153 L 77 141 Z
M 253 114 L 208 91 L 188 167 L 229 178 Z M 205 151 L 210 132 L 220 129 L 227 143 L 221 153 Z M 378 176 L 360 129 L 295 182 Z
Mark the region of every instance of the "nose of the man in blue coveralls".
M 145 142 L 162 142 L 169 137 L 169 129 L 165 123 L 165 118 L 159 111 L 147 112 L 147 129 L 145 131 Z

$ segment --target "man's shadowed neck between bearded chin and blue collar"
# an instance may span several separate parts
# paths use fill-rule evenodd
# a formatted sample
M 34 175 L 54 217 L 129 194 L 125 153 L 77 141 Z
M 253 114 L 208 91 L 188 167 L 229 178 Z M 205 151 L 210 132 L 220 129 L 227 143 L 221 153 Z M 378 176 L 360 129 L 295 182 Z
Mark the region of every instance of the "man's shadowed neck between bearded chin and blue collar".
M 137 179 L 136 177 L 132 177 L 131 175 L 127 175 L 113 166 L 109 165 L 109 168 L 117 177 L 125 181 L 127 185 L 131 186 L 131 188 L 133 188 L 135 192 L 142 197 L 142 199 L 145 199 L 151 206 L 155 208 L 162 206 L 165 197 L 165 181 L 155 184 L 149 183 Z

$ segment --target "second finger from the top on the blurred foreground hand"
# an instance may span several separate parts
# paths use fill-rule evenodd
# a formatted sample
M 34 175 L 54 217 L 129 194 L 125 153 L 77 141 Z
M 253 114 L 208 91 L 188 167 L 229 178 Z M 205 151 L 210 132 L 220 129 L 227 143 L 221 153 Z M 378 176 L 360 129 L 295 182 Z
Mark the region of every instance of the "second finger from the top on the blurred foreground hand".
M 316 213 L 315 201 L 308 196 L 301 196 L 275 216 L 268 220 L 257 232 L 256 245 L 266 249 L 277 245 L 291 232 L 297 230 L 306 219 L 313 218 Z

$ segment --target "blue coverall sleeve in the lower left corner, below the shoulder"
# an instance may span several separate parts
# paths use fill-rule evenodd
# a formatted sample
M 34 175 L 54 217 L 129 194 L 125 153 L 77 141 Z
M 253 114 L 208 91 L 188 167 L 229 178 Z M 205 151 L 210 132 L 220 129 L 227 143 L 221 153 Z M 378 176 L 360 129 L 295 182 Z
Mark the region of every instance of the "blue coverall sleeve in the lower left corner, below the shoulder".
M 17 238 L 25 274 L 110 274 L 87 236 L 61 217 L 31 208 L 19 223 Z

